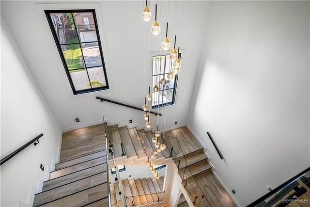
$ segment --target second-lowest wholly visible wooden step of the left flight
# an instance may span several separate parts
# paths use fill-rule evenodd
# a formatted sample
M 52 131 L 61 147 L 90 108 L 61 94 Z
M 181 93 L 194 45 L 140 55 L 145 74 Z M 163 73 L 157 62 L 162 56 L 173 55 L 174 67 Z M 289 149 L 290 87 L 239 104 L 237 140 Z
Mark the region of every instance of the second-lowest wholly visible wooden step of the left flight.
M 99 164 L 84 170 L 80 170 L 75 173 L 71 173 L 68 175 L 63 175 L 61 177 L 57 177 L 51 180 L 47 180 L 43 182 L 42 191 L 47 191 L 53 188 L 60 187 L 62 185 L 75 182 L 79 179 L 83 179 L 98 173 L 103 173 L 107 171 L 107 163 Z

